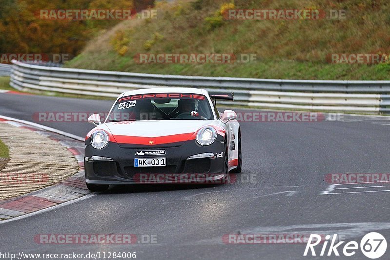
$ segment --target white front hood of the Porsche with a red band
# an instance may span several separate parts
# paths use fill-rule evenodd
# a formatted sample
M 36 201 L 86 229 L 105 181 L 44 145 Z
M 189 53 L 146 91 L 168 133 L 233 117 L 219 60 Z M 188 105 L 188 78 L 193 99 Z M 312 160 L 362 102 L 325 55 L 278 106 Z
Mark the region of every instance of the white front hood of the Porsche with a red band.
M 149 120 L 106 123 L 119 144 L 163 145 L 195 139 L 195 132 L 213 120 Z M 126 145 L 127 146 L 127 145 Z

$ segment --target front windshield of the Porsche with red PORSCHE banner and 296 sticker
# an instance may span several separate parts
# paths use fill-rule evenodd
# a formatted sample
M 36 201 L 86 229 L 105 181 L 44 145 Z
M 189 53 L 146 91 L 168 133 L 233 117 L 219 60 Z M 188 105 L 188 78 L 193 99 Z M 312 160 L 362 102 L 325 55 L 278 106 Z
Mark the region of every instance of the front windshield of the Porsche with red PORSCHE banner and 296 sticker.
M 143 120 L 213 120 L 209 100 L 192 93 L 150 93 L 117 100 L 108 122 Z

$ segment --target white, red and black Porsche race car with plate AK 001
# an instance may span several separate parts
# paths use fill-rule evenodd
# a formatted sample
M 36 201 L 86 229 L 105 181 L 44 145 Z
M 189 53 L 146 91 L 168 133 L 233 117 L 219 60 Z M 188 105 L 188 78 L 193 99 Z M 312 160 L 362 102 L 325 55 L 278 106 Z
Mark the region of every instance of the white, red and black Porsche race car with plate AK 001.
M 85 139 L 88 189 L 135 183 L 223 183 L 241 172 L 241 131 L 232 110 L 218 112 L 204 89 L 161 87 L 119 95 Z M 222 181 L 221 181 L 222 180 Z

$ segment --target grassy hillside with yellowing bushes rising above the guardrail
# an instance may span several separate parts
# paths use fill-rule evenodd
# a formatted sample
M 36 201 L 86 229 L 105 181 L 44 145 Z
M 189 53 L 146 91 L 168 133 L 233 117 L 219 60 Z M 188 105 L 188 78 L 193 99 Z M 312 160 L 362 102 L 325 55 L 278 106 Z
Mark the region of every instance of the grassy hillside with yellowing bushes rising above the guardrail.
M 331 53 L 390 53 L 390 3 L 374 0 L 159 2 L 157 19 L 126 20 L 91 40 L 68 67 L 202 76 L 390 80 L 390 64 L 330 64 Z M 346 19 L 226 20 L 226 9 L 344 9 Z M 256 63 L 139 64 L 139 53 L 255 54 Z

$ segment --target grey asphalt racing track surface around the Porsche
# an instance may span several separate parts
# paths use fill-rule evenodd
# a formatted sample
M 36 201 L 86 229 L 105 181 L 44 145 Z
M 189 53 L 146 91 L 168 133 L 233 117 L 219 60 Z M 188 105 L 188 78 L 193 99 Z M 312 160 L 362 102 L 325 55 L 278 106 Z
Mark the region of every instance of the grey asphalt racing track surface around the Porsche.
M 0 94 L 0 114 L 32 121 L 34 112 L 108 111 L 111 103 Z M 330 185 L 324 181 L 328 173 L 390 171 L 390 125 L 386 125 L 390 120 L 345 118 L 315 123 L 242 122 L 242 174 L 254 175 L 257 182 L 114 187 L 56 210 L 0 224 L 1 251 L 130 251 L 137 253 L 137 259 L 313 259 L 302 256 L 304 244 L 222 243 L 224 234 L 238 232 L 338 233 L 344 234 L 347 241 L 360 242 L 364 234 L 378 231 L 389 244 L 389 185 L 339 190 L 365 191 L 360 193 L 321 195 Z M 80 122 L 42 124 L 79 136 L 92 128 Z M 34 242 L 37 234 L 111 233 L 155 234 L 158 243 L 124 246 Z M 389 259 L 389 247 L 382 259 Z M 357 251 L 345 259 L 367 258 Z

